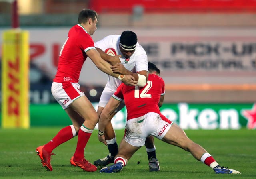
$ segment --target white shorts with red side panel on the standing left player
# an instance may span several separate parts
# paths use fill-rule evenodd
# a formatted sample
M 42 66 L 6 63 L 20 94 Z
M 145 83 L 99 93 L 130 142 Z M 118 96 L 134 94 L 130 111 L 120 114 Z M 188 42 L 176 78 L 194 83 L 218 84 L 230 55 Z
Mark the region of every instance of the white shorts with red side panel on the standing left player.
M 84 93 L 79 89 L 78 83 L 52 83 L 52 96 L 60 103 L 63 109 L 68 106 L 77 98 L 84 96 Z

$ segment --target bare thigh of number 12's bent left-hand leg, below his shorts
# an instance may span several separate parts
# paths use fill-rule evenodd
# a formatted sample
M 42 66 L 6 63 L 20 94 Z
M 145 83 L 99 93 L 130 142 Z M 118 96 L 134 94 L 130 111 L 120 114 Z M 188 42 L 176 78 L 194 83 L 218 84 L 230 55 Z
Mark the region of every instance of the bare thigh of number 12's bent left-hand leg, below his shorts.
M 132 146 L 131 144 L 129 144 L 128 142 L 126 142 L 124 140 L 124 138 L 122 139 L 122 141 L 120 142 L 119 145 L 119 149 L 118 149 L 118 155 L 122 155 L 124 156 L 127 160 L 129 160 L 132 155 L 138 150 L 140 149 L 140 147 L 135 147 Z

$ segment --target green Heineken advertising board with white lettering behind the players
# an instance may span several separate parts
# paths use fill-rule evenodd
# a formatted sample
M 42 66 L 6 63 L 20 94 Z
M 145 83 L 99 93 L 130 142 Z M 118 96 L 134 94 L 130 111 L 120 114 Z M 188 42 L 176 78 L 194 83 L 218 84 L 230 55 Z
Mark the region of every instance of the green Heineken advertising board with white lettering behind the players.
M 98 103 L 93 103 L 98 108 Z M 162 114 L 183 129 L 240 129 L 256 128 L 255 104 L 163 104 Z M 45 115 L 48 114 L 47 118 Z M 70 119 L 59 104 L 30 105 L 31 126 L 70 125 Z M 112 119 L 115 129 L 126 124 L 126 108 Z M 97 126 L 96 126 L 97 128 Z

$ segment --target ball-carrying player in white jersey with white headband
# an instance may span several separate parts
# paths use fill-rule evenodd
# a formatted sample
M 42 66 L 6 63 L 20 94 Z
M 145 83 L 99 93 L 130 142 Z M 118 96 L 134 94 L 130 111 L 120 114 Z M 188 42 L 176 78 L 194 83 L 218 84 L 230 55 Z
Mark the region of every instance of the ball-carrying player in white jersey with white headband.
M 148 57 L 146 51 L 137 41 L 137 36 L 132 31 L 124 31 L 121 35 L 109 35 L 95 43 L 96 49 L 100 52 L 102 58 L 105 58 L 104 51 L 112 48 L 116 54 L 121 55 L 120 63 L 112 64 L 114 73 L 123 75 L 132 75 L 138 81 L 138 86 L 144 87 L 148 79 Z M 98 104 L 98 116 L 106 106 L 108 100 L 114 94 L 116 89 L 122 83 L 119 79 L 108 75 L 108 82 L 100 97 Z M 124 107 L 124 103 L 112 113 L 111 118 Z M 111 122 L 105 130 L 106 144 L 108 146 L 109 154 L 105 158 L 94 161 L 94 165 L 98 167 L 105 167 L 109 163 L 114 163 L 114 157 L 118 153 L 118 145 L 116 143 L 116 135 Z M 156 159 L 156 148 L 154 146 L 154 138 L 148 137 L 145 143 L 148 153 L 149 169 L 150 171 L 159 171 L 159 162 Z

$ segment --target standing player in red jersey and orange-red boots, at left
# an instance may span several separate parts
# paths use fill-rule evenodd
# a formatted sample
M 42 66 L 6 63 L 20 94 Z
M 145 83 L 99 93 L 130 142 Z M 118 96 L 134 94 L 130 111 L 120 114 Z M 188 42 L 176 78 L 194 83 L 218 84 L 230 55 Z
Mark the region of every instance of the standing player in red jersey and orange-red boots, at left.
M 98 14 L 94 10 L 82 10 L 78 16 L 78 24 L 69 30 L 68 38 L 60 51 L 57 73 L 52 83 L 52 95 L 66 111 L 72 125 L 62 128 L 50 142 L 36 148 L 42 165 L 48 171 L 52 171 L 50 157 L 53 155 L 53 149 L 76 135 L 78 135 L 78 141 L 71 161 L 85 171 L 97 170 L 96 166 L 84 159 L 84 149 L 98 122 L 96 110 L 80 91 L 78 84 L 80 72 L 87 57 L 104 73 L 120 79 L 127 85 L 137 84 L 131 75 L 121 75 L 112 71 L 110 63 L 120 62 L 118 57 L 108 55 L 106 59 L 102 59 L 94 47 L 91 35 L 97 29 L 97 17 Z

